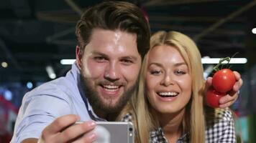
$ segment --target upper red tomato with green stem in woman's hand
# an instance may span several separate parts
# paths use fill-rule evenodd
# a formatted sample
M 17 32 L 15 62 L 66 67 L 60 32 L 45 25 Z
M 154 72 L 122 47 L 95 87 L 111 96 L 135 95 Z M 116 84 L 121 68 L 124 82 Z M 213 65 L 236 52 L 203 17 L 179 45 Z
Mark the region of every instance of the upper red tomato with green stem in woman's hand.
M 236 82 L 236 77 L 230 69 L 221 69 L 216 71 L 214 77 L 212 77 L 212 85 L 218 92 L 229 92 Z

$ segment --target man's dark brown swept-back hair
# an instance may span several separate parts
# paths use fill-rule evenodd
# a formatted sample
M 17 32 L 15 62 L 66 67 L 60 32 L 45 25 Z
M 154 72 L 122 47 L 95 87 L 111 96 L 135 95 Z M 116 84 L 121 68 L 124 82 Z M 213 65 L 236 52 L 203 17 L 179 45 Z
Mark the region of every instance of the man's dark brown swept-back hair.
M 137 34 L 137 49 L 143 57 L 150 47 L 150 27 L 142 10 L 125 1 L 105 1 L 84 11 L 76 25 L 78 46 L 83 51 L 93 29 L 121 30 Z

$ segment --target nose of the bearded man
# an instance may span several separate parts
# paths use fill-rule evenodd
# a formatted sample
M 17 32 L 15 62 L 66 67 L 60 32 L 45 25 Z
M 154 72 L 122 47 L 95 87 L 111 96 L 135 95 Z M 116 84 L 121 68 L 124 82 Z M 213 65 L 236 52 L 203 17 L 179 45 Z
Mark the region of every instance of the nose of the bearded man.
M 106 66 L 104 78 L 109 80 L 110 82 L 115 82 L 116 80 L 119 80 L 120 69 L 116 63 L 109 63 L 109 65 Z

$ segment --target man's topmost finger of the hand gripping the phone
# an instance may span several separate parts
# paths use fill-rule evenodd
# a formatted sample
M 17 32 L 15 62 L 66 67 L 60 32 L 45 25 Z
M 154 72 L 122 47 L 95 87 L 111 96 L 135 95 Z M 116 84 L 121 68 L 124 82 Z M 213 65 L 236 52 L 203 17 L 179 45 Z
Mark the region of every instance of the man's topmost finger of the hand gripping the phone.
M 49 126 L 45 127 L 43 134 L 47 135 L 60 132 L 65 127 L 68 127 L 70 124 L 74 124 L 79 119 L 80 117 L 75 114 L 68 114 L 63 117 L 58 117 Z

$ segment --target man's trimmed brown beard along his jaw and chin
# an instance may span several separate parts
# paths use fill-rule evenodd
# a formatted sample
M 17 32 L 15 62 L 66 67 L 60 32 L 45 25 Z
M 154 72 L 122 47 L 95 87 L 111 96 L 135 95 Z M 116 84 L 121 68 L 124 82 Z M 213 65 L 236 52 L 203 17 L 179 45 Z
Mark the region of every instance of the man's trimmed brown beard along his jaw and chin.
M 83 74 L 81 74 L 81 82 L 83 82 L 83 89 L 86 93 L 86 97 L 88 98 L 88 102 L 90 102 L 93 109 L 97 109 L 98 111 L 104 112 L 106 114 L 121 112 L 130 97 L 132 97 L 132 94 L 134 94 L 138 84 L 137 81 L 132 87 L 124 90 L 124 93 L 120 95 L 119 100 L 115 104 L 111 104 L 111 102 L 106 104 L 102 101 L 96 89 L 92 87 L 89 80 L 90 79 L 83 77 Z

